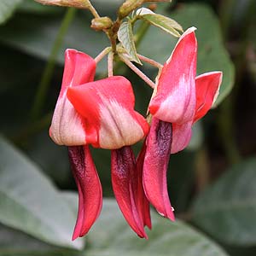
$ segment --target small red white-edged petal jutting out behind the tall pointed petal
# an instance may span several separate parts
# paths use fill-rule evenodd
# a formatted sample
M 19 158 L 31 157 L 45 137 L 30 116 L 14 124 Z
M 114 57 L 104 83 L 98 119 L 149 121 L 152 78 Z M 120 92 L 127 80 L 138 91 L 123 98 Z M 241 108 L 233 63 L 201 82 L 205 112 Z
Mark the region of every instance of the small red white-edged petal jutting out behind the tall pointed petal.
M 203 73 L 195 78 L 196 107 L 194 122 L 201 119 L 212 108 L 218 96 L 222 75 L 222 72 L 215 71 Z

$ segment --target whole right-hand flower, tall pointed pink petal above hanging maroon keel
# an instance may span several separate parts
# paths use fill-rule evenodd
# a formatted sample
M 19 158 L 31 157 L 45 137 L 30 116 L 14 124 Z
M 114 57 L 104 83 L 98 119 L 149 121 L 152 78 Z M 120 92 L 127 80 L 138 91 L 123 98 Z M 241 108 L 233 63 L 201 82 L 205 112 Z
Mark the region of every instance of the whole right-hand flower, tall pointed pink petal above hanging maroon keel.
M 161 215 L 174 220 L 166 183 L 170 154 L 187 147 L 191 127 L 218 96 L 221 72 L 196 75 L 195 27 L 179 38 L 156 83 L 148 110 L 153 115 L 146 140 L 143 186 L 148 201 Z

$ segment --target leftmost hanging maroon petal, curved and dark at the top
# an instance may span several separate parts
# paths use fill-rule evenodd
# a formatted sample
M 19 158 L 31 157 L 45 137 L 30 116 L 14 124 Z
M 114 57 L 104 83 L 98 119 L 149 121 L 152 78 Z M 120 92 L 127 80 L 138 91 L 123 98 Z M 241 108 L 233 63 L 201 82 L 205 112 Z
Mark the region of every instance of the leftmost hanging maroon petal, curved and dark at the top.
M 68 147 L 73 177 L 79 190 L 79 212 L 73 240 L 84 236 L 102 210 L 102 185 L 89 146 Z

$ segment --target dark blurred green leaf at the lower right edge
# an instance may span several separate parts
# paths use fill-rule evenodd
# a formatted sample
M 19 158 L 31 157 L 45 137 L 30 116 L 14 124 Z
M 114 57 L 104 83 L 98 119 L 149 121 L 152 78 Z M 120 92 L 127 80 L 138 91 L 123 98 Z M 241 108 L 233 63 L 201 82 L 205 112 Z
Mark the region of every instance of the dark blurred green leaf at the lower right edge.
M 202 230 L 228 244 L 256 245 L 256 157 L 232 166 L 202 193 L 193 220 Z

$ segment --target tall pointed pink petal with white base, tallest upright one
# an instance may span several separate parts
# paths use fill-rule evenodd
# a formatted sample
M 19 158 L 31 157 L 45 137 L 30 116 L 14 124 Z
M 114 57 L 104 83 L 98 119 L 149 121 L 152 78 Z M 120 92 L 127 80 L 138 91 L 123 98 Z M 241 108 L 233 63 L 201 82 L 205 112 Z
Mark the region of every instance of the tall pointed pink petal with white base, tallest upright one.
M 148 107 L 154 117 L 177 124 L 193 119 L 196 55 L 195 27 L 190 27 L 179 38 L 160 73 L 156 95 Z

